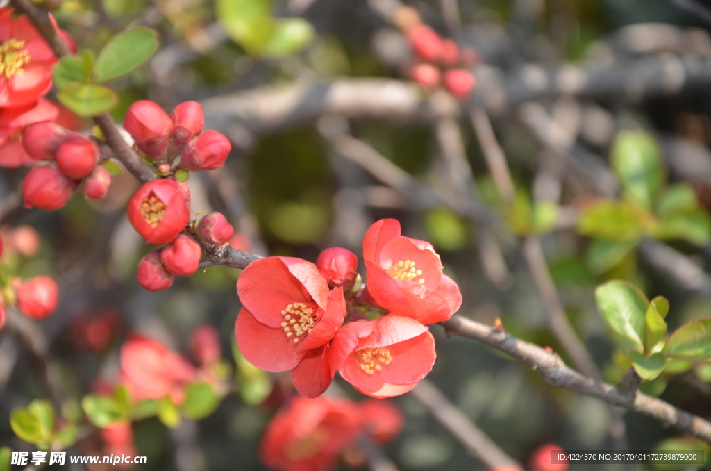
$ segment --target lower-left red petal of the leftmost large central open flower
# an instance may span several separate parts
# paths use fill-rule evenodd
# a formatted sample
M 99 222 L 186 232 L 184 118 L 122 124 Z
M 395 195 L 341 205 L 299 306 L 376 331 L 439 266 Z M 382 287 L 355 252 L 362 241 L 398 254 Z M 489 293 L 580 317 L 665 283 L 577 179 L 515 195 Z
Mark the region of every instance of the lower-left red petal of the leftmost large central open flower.
M 264 371 L 289 371 L 304 356 L 296 351 L 294 342 L 289 341 L 281 327 L 274 329 L 262 324 L 245 308 L 237 315 L 235 336 L 245 359 Z

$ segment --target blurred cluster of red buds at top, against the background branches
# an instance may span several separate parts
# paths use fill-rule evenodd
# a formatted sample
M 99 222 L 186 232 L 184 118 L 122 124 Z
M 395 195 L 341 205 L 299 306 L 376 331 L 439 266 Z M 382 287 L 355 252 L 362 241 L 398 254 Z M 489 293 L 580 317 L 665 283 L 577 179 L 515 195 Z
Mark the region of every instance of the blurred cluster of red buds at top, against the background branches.
M 439 36 L 422 23 L 422 18 L 410 6 L 397 9 L 393 20 L 407 36 L 417 57 L 417 63 L 410 68 L 410 78 L 425 90 L 444 85 L 454 97 L 466 100 L 474 90 L 476 80 L 465 67 L 477 62 L 476 52 L 469 48 L 461 49 L 451 39 Z

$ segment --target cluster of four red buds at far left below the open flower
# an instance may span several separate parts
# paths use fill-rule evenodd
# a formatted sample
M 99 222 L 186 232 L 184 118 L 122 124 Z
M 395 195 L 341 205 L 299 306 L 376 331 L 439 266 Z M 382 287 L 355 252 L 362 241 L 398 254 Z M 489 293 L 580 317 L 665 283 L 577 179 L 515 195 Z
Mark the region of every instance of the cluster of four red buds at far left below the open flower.
M 27 208 L 62 208 L 82 182 L 87 199 L 109 194 L 111 174 L 100 165 L 99 147 L 92 139 L 53 122 L 38 122 L 23 129 L 22 145 L 31 159 L 48 163 L 34 166 L 22 182 Z

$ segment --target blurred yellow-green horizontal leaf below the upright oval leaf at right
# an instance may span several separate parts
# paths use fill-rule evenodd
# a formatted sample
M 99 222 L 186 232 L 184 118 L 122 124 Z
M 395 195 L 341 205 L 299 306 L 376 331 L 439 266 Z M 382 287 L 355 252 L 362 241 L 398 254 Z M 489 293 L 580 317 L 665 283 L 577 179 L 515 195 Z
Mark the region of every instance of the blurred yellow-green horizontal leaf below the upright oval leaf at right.
M 654 216 L 634 201 L 600 199 L 584 209 L 577 230 L 594 238 L 625 241 L 641 238 L 654 224 Z

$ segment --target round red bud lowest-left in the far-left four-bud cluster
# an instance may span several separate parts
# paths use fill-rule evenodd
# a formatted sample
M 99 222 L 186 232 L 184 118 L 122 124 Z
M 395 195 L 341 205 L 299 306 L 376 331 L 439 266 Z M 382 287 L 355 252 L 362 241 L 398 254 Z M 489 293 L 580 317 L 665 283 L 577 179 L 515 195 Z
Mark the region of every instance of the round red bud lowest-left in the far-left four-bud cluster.
M 52 166 L 36 166 L 22 181 L 22 198 L 26 208 L 53 211 L 72 197 L 77 183 Z

